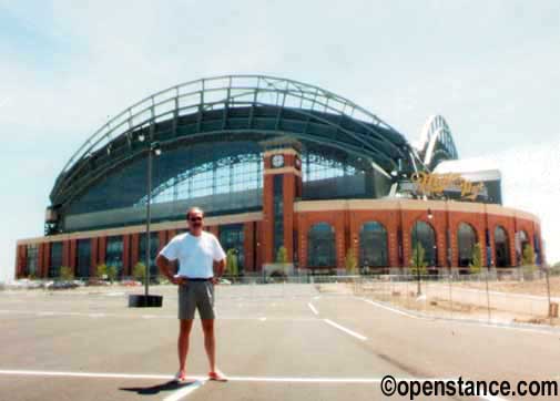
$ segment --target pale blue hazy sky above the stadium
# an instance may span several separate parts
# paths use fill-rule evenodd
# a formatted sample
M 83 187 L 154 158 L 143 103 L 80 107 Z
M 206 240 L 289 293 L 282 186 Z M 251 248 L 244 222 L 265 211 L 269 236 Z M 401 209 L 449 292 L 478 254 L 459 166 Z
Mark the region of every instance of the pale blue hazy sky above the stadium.
M 75 150 L 144 96 L 255 73 L 350 99 L 410 141 L 432 114 L 460 158 L 492 163 L 506 206 L 560 260 L 558 1 L 0 0 L 0 281 L 42 235 Z

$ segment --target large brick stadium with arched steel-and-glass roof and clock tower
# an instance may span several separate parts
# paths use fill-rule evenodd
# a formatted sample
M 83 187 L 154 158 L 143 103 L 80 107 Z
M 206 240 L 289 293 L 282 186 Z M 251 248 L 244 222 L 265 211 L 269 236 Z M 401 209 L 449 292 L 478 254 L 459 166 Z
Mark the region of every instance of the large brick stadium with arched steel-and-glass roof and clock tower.
M 414 135 L 416 136 L 416 135 Z M 460 161 L 449 125 L 407 137 L 352 101 L 264 75 L 207 78 L 154 93 L 108 121 L 70 157 L 44 236 L 17 244 L 16 276 L 130 277 L 186 230 L 185 210 L 242 275 L 520 266 L 543 263 L 537 216 L 502 206 L 501 175 Z M 418 249 L 421 248 L 420 253 Z M 418 260 L 417 260 L 418 261 Z M 353 270 L 354 273 L 354 270 Z

